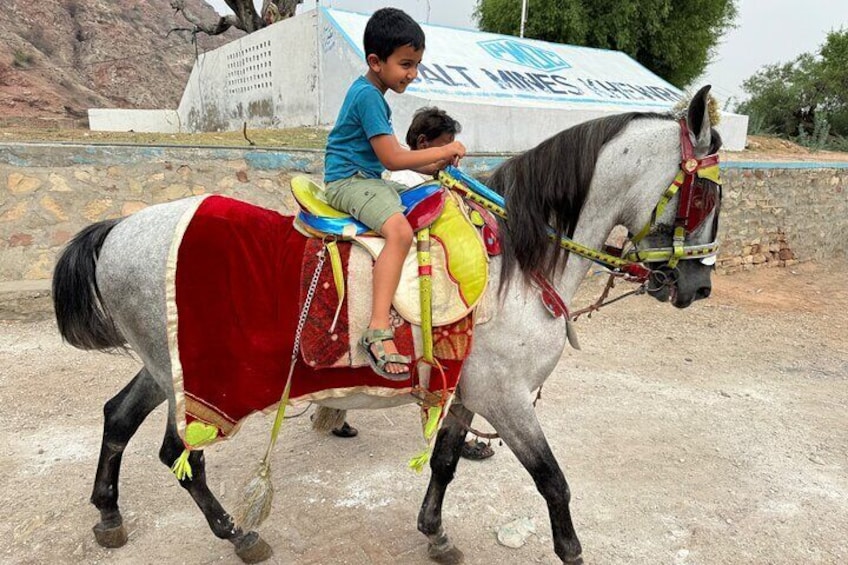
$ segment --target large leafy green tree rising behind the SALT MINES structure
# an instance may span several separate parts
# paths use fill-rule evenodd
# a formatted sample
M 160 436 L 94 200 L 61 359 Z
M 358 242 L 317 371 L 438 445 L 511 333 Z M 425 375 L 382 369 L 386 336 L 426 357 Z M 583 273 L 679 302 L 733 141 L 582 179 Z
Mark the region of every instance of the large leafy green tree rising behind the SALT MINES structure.
M 529 0 L 525 37 L 627 53 L 685 87 L 736 18 L 735 0 Z M 521 2 L 478 0 L 483 31 L 518 35 Z

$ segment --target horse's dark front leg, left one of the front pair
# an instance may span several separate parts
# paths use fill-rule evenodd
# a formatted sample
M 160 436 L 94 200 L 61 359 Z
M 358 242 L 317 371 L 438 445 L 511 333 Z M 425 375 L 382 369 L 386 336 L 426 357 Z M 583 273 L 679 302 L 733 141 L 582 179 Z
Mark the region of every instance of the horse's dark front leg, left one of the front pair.
M 450 541 L 442 527 L 442 502 L 445 491 L 453 480 L 465 433 L 474 413 L 459 403 L 454 404 L 445 418 L 430 460 L 430 484 L 427 496 L 418 513 L 418 530 L 430 541 L 427 553 L 438 563 L 460 563 L 462 552 Z

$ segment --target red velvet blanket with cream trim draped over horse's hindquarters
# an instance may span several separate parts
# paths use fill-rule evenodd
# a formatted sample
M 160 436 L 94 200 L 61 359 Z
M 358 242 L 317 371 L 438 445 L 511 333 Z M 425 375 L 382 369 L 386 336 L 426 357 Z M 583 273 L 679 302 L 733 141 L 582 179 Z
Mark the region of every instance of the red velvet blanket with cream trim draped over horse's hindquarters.
M 230 198 L 207 197 L 186 213 L 172 245 L 167 289 L 177 425 L 184 439 L 195 420 L 230 436 L 243 418 L 279 402 L 300 315 L 306 244 L 291 217 Z M 325 268 L 330 271 L 329 261 Z M 311 271 L 304 276 L 311 278 Z M 453 389 L 462 362 L 443 365 Z M 433 389 L 442 388 L 440 378 L 431 382 Z M 300 360 L 291 399 L 412 390 L 412 383 L 388 381 L 368 367 L 320 369 Z

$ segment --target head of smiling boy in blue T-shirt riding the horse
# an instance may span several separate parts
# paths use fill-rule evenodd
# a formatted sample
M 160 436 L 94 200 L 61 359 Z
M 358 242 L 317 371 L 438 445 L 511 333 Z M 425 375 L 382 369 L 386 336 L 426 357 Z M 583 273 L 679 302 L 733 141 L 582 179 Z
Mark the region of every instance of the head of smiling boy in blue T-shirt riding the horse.
M 398 94 L 418 76 L 424 56 L 424 30 L 397 8 L 374 12 L 365 26 L 366 77 L 385 94 Z

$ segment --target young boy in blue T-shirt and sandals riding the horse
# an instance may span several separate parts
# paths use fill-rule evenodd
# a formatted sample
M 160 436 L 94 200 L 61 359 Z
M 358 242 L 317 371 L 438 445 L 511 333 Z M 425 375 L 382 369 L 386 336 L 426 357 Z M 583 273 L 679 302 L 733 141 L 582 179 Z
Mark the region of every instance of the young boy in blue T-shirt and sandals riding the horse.
M 359 344 L 374 372 L 406 380 L 410 359 L 398 354 L 389 312 L 413 234 L 398 195 L 406 187 L 380 176 L 384 169 L 432 173 L 463 157 L 465 147 L 454 141 L 409 151 L 394 136 L 384 95 L 387 90 L 402 94 L 418 76 L 424 55 L 421 26 L 401 10 L 383 8 L 365 26 L 364 47 L 368 71 L 348 89 L 327 139 L 324 183 L 331 206 L 350 213 L 386 240 L 374 263 L 371 321 Z

